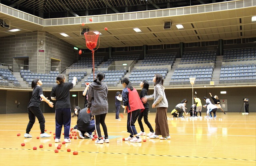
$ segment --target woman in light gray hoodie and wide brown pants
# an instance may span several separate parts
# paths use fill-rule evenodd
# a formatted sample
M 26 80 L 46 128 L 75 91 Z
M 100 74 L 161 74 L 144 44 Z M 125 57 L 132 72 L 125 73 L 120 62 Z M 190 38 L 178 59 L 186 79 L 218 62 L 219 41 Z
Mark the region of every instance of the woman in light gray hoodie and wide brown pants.
M 167 140 L 171 139 L 169 135 L 169 127 L 167 121 L 167 108 L 168 101 L 164 93 L 164 78 L 161 74 L 155 74 L 153 78 L 154 82 L 154 93 L 149 96 L 144 96 L 142 102 L 146 103 L 148 100 L 154 100 L 152 108 L 156 107 L 156 128 L 155 135 L 150 136 L 150 139 L 159 139 L 158 135 L 162 135 L 160 139 Z

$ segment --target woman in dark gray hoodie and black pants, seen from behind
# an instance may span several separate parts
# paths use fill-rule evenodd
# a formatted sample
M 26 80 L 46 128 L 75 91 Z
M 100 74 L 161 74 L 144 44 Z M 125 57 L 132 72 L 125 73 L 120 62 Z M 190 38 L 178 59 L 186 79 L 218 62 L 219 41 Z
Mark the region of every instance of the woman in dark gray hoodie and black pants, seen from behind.
M 105 118 L 108 113 L 108 86 L 102 82 L 104 78 L 105 74 L 102 72 L 96 75 L 96 79 L 90 84 L 87 99 L 87 113 L 92 111 L 92 116 L 95 116 L 96 131 L 98 133 L 98 139 L 95 143 L 98 144 L 109 143 L 108 130 L 105 124 Z M 104 139 L 101 139 L 100 124 L 104 131 Z

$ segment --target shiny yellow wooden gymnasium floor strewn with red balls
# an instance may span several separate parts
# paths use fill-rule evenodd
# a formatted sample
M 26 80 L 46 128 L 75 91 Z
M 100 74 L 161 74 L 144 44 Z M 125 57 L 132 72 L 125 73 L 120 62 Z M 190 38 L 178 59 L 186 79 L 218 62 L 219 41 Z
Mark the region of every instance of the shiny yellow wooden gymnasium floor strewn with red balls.
M 55 130 L 54 113 L 45 113 L 46 129 Z M 170 118 L 169 118 L 170 117 Z M 115 120 L 108 113 L 106 125 L 110 143 L 95 144 L 92 139 L 71 139 L 62 145 L 50 138 L 40 138 L 38 121 L 25 139 L 27 114 L 0 114 L 0 166 L 255 166 L 256 165 L 256 113 L 217 113 L 216 119 L 171 118 L 168 113 L 170 140 L 146 139 L 142 143 L 122 141 L 128 137 L 126 117 Z M 155 113 L 149 113 L 152 127 Z M 72 127 L 76 119 L 72 119 Z M 144 124 L 146 133 L 148 127 Z M 140 127 L 136 122 L 136 129 Z M 63 131 L 63 129 L 62 129 Z M 17 133 L 21 135 L 18 137 Z M 102 132 L 103 134 L 103 132 Z M 61 142 L 64 141 L 63 135 Z M 21 146 L 25 143 L 25 146 Z M 48 146 L 52 143 L 52 146 Z M 43 145 L 43 148 L 39 148 Z M 33 150 L 33 146 L 37 150 Z M 67 152 L 67 148 L 71 152 Z M 78 151 L 78 155 L 73 155 Z

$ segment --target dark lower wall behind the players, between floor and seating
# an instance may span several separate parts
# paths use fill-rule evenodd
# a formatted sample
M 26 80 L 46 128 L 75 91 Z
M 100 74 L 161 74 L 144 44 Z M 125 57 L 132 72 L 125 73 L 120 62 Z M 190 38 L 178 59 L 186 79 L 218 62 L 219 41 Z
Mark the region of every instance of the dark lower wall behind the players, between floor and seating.
M 227 94 L 220 94 L 220 91 L 226 91 Z M 108 92 L 108 104 L 109 109 L 108 112 L 115 112 L 115 95 L 116 90 L 111 90 Z M 122 92 L 122 91 L 120 91 Z M 204 96 L 210 98 L 209 92 L 212 95 L 217 95 L 221 102 L 223 100 L 227 101 L 226 106 L 228 107 L 228 112 L 239 112 L 243 101 L 243 98 L 249 99 L 249 111 L 256 112 L 256 87 L 244 87 L 244 88 L 194 88 L 194 94 L 201 99 L 202 104 L 205 104 L 204 100 L 202 99 Z M 138 93 L 140 94 L 140 89 L 138 89 Z M 149 90 L 148 94 L 152 94 L 153 90 Z M 192 89 L 166 89 L 166 98 L 168 100 L 168 112 L 174 109 L 175 105 L 181 102 L 184 98 L 188 100 L 187 108 L 189 109 L 192 105 Z M 82 91 L 79 92 L 70 92 L 70 96 L 72 94 L 76 94 L 76 97 L 70 97 L 71 105 L 74 107 L 75 105 L 80 106 L 83 108 L 84 105 L 84 97 L 82 97 Z M 26 113 L 27 105 L 32 95 L 31 92 L 14 92 L 9 90 L 0 90 L 0 113 Z M 50 98 L 50 92 L 44 92 L 44 95 Z M 17 102 L 16 102 L 17 101 Z M 212 101 L 212 99 L 211 99 Z M 213 101 L 212 101 L 213 102 Z M 18 104 L 20 103 L 20 104 Z M 150 106 L 152 105 L 153 101 L 149 101 Z M 54 102 L 55 104 L 55 102 Z M 19 106 L 18 106 L 19 105 Z M 18 106 L 18 107 L 17 107 Z M 50 108 L 48 104 L 42 102 L 41 109 L 43 112 L 54 112 L 55 108 Z M 121 109 L 122 110 L 122 109 Z M 206 109 L 203 108 L 203 112 Z M 152 109 L 150 107 L 150 112 L 155 112 L 156 109 Z M 242 112 L 244 111 L 242 107 Z M 122 111 L 121 111 L 122 112 Z M 204 114 L 203 114 L 204 115 Z

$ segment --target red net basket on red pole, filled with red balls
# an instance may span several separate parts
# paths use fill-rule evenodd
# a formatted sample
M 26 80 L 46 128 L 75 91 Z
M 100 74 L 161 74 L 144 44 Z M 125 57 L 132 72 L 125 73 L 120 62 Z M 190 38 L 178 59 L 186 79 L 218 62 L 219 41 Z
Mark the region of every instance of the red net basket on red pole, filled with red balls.
M 92 68 L 93 68 L 93 79 L 94 79 L 94 51 L 96 50 L 97 41 L 99 39 L 100 32 L 98 31 L 88 31 L 84 33 L 85 41 L 86 41 L 86 47 L 92 51 Z M 97 49 L 100 46 L 100 40 L 99 45 Z

